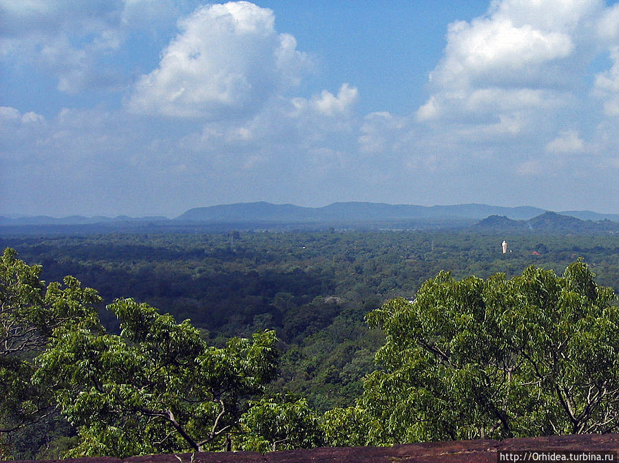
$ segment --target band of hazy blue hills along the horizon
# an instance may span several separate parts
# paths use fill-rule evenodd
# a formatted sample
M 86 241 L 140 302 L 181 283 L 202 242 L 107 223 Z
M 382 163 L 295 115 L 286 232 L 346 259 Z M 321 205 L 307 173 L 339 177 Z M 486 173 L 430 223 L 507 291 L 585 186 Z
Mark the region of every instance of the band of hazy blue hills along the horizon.
M 465 228 L 477 230 L 554 230 L 561 233 L 598 233 L 601 230 L 617 231 L 615 222 L 619 215 L 591 211 L 552 213 L 531 206 L 502 207 L 487 204 L 457 204 L 452 206 L 415 206 L 411 204 L 385 204 L 372 202 L 336 202 L 323 207 L 303 207 L 294 204 L 250 202 L 222 204 L 189 209 L 175 219 L 167 217 L 0 217 L 0 233 L 21 233 L 24 227 L 32 233 L 55 227 L 81 227 L 75 230 L 140 230 L 156 231 L 224 231 L 240 229 L 292 230 L 324 228 Z M 39 227 L 39 228 L 36 228 Z M 41 228 L 43 227 L 43 228 Z M 198 227 L 198 228 L 196 228 Z

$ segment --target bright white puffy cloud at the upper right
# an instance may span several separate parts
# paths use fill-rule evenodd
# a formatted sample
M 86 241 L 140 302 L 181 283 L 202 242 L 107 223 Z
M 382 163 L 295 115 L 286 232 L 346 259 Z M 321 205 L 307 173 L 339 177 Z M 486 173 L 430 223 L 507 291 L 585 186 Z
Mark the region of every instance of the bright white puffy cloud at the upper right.
M 484 17 L 452 23 L 418 120 L 569 103 L 569 88 L 580 84 L 587 65 L 583 55 L 591 53 L 586 30 L 601 7 L 598 0 L 502 0 Z

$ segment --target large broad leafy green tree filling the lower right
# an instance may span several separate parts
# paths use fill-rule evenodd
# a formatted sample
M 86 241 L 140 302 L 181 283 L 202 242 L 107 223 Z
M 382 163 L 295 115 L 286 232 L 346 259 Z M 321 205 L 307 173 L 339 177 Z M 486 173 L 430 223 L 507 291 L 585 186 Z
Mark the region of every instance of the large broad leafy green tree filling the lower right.
M 366 441 L 607 433 L 619 427 L 619 308 L 583 261 L 563 277 L 449 273 L 368 314 L 386 344 L 358 408 Z M 342 412 L 339 412 L 342 413 Z M 351 412 L 348 412 L 351 413 Z M 360 412 L 359 412 L 360 413 Z M 379 422 L 379 433 L 372 422 Z

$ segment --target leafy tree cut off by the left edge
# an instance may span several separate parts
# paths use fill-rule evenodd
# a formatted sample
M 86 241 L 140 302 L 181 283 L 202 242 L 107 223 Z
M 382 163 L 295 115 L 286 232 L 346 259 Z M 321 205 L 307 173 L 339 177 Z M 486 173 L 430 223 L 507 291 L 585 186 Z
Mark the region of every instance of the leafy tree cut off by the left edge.
M 40 274 L 41 266 L 28 266 L 10 248 L 0 257 L 0 434 L 5 439 L 54 412 L 49 385 L 32 382 L 33 357 L 59 330 L 94 327 L 98 320 L 96 291 L 72 277 L 64 286 L 45 287 Z

